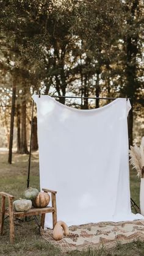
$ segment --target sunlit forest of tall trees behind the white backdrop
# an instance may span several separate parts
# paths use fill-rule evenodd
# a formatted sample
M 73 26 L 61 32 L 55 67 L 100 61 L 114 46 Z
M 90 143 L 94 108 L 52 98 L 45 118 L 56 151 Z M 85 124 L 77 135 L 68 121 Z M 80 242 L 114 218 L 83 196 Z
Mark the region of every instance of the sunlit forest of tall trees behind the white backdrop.
M 12 147 L 13 141 L 18 153 L 28 153 L 34 92 L 129 97 L 129 144 L 139 143 L 144 136 L 142 0 L 1 0 L 0 5 L 0 147 Z M 110 102 L 58 100 L 79 109 Z M 37 150 L 36 109 L 33 123 Z

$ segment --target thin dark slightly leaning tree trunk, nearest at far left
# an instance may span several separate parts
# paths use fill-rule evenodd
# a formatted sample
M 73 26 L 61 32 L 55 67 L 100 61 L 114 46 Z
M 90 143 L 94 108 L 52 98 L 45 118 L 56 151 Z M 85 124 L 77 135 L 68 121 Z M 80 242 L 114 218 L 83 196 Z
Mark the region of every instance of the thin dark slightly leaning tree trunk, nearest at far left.
M 10 115 L 10 141 L 9 141 L 9 158 L 8 163 L 12 164 L 12 146 L 13 146 L 13 126 L 15 116 L 15 95 L 16 95 L 16 77 L 13 78 L 12 86 L 12 111 Z

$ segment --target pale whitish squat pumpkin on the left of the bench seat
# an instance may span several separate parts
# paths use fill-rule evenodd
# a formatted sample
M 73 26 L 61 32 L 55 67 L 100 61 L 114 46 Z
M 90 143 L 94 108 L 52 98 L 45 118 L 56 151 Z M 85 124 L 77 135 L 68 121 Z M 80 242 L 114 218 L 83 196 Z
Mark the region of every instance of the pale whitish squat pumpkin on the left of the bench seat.
M 15 211 L 28 211 L 32 207 L 32 201 L 27 199 L 19 199 L 13 202 Z

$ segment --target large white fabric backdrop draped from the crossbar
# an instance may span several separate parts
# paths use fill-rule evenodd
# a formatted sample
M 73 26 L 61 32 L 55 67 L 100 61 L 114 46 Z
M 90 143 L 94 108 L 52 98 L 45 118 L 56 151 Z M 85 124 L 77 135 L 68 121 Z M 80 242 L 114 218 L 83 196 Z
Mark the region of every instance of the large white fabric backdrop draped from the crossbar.
M 99 109 L 37 103 L 40 187 L 57 191 L 58 220 L 68 225 L 142 219 L 131 213 L 127 115 L 118 98 Z M 136 174 L 135 174 L 136 175 Z M 46 226 L 51 226 L 51 218 Z

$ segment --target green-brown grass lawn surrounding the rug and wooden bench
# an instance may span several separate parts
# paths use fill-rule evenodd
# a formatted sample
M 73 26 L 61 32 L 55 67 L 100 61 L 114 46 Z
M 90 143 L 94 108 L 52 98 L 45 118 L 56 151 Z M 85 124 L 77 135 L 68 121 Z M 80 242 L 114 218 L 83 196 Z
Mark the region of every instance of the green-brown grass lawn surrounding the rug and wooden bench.
M 7 152 L 0 152 L 0 191 L 8 192 L 15 196 L 15 199 L 23 197 L 23 191 L 27 185 L 28 156 L 13 154 L 13 164 L 7 163 Z M 32 154 L 30 185 L 39 189 L 38 154 Z M 139 205 L 140 182 L 134 170 L 131 171 L 131 197 Z M 63 255 L 57 247 L 52 246 L 41 238 L 39 229 L 35 222 L 15 222 L 15 244 L 9 243 L 9 221 L 5 221 L 4 235 L 0 236 L 0 255 L 13 256 L 61 256 Z M 65 255 L 77 256 L 126 256 L 144 255 L 144 243 L 135 241 L 131 244 L 86 252 L 73 251 Z

